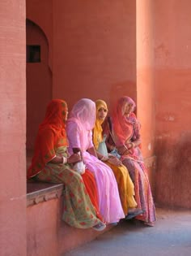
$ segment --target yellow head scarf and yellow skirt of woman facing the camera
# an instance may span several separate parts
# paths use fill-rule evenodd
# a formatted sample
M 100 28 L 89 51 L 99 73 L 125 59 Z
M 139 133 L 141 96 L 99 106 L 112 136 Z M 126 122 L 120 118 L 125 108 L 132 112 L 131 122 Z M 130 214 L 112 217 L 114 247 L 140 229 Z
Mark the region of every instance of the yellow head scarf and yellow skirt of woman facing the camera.
M 101 127 L 101 124 L 103 124 L 104 120 L 100 120 L 98 118 L 98 112 L 100 108 L 104 108 L 108 111 L 108 106 L 106 102 L 102 100 L 97 100 L 96 125 L 93 128 L 93 142 L 96 150 L 98 149 L 99 143 L 103 140 L 103 129 Z M 112 169 L 114 176 L 116 177 L 121 205 L 124 210 L 124 214 L 127 215 L 129 207 L 134 208 L 137 206 L 137 203 L 134 200 L 134 184 L 129 177 L 129 172 L 124 165 L 117 167 L 114 164 L 109 163 L 108 161 L 105 161 L 104 163 L 106 163 Z

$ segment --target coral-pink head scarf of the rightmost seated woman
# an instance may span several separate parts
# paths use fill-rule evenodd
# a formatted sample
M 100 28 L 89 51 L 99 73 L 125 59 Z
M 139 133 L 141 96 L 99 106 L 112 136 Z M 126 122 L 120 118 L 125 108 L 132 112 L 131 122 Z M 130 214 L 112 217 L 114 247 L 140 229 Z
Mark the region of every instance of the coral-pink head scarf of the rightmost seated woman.
M 112 113 L 113 132 L 116 137 L 117 145 L 124 145 L 133 134 L 133 125 L 124 115 L 125 106 L 129 103 L 133 104 L 133 107 L 135 108 L 136 105 L 132 98 L 127 96 L 121 97 L 117 101 L 117 105 Z M 131 113 L 130 115 L 134 115 L 134 113 Z

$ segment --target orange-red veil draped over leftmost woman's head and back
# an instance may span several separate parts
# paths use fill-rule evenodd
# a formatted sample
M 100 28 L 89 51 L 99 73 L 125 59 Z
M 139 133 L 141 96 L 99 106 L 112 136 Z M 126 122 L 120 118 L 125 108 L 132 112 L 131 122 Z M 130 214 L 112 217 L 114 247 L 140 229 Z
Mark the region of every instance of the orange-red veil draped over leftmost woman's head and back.
M 67 104 L 53 99 L 47 106 L 44 121 L 39 126 L 36 137 L 32 165 L 28 169 L 28 178 L 38 174 L 54 156 L 59 146 L 68 146 L 66 137 Z

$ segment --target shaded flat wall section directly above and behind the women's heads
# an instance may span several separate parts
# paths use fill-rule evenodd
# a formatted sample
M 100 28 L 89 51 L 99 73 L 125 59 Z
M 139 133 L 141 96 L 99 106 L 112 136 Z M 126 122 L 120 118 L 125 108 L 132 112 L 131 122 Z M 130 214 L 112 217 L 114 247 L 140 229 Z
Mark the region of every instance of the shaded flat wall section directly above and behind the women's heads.
M 53 2 L 53 98 L 136 97 L 134 1 Z

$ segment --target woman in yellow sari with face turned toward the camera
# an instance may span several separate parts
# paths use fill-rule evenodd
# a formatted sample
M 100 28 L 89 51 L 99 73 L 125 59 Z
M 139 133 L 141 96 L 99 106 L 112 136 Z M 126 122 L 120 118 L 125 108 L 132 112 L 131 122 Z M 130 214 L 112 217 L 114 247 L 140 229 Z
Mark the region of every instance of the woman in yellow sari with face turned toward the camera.
M 113 171 L 117 180 L 121 205 L 124 210 L 126 219 L 131 219 L 142 214 L 142 210 L 137 209 L 137 203 L 134 200 L 134 184 L 129 177 L 127 168 L 121 161 L 112 154 L 103 155 L 99 152 L 100 142 L 104 140 L 104 134 L 101 124 L 108 113 L 108 106 L 102 100 L 96 101 L 96 124 L 93 129 L 93 142 L 97 150 L 98 158 L 106 163 Z

